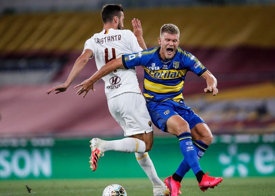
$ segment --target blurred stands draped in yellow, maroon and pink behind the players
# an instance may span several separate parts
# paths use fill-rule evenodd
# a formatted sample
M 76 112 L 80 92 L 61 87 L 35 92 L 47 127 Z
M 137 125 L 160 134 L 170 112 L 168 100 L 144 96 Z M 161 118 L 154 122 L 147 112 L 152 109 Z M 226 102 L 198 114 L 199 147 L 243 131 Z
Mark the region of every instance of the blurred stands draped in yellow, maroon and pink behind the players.
M 191 73 L 187 74 L 184 89 L 186 102 L 203 118 L 205 116 L 214 133 L 232 132 L 232 129 L 235 132 L 256 131 L 247 125 L 252 124 L 251 117 L 229 122 L 224 119 L 211 120 L 208 116 L 214 115 L 214 112 L 205 112 L 198 102 L 203 99 L 205 105 L 222 103 L 219 110 L 229 114 L 222 109 L 228 103 L 225 100 L 232 100 L 232 96 L 235 100 L 242 99 L 251 93 L 250 89 L 257 87 L 266 91 L 253 91 L 253 99 L 266 99 L 267 108 L 270 110 L 273 107 L 270 99 L 275 97 L 272 88 L 275 79 L 275 6 L 177 7 L 169 13 L 164 8 L 125 10 L 124 15 L 125 29 L 132 29 L 130 20 L 133 17 L 142 21 L 147 47 L 158 46 L 159 29 L 163 23 L 174 23 L 179 27 L 180 47 L 195 55 L 218 79 L 219 95 L 216 97 L 204 96 L 205 81 Z M 66 80 L 83 50 L 85 40 L 101 31 L 102 26 L 99 11 L 1 16 L 1 135 L 66 133 L 67 136 L 81 136 L 122 133 L 109 114 L 103 82 L 98 82 L 96 92 L 89 93 L 85 99 L 75 95 L 77 89 L 73 86 L 96 71 L 94 59 L 89 61 L 68 92 L 45 94 L 47 89 Z M 20 60 L 27 62 L 26 70 L 32 71 L 23 70 Z M 53 66 L 53 62 L 57 61 L 59 63 Z M 137 68 L 137 76 L 142 87 L 143 70 L 140 67 Z M 236 88 L 241 93 L 237 94 Z M 257 107 L 253 108 L 256 110 Z M 254 122 L 253 125 L 263 126 L 263 132 L 272 131 L 270 127 L 275 119 L 272 109 L 269 115 L 271 120 L 256 125 Z M 11 119 L 14 119 L 12 123 Z M 235 128 L 220 130 L 221 124 L 228 124 L 227 127 L 231 128 L 234 125 Z M 116 130 L 115 133 L 109 130 L 111 128 Z M 156 131 L 158 134 L 163 133 Z

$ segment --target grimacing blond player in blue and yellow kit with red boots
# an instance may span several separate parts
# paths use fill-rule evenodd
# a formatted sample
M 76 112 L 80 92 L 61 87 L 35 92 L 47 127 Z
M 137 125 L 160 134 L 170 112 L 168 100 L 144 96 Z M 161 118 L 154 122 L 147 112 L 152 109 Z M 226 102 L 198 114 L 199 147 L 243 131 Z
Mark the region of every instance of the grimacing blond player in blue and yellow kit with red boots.
M 176 172 L 164 182 L 171 195 L 177 196 L 182 178 L 192 169 L 200 189 L 206 191 L 223 180 L 221 177 L 209 176 L 209 172 L 205 174 L 198 161 L 213 136 L 203 119 L 185 105 L 182 90 L 188 71 L 205 79 L 207 87 L 204 92 L 212 93 L 213 96 L 218 93 L 217 80 L 194 55 L 178 47 L 179 29 L 175 25 L 163 25 L 158 42 L 160 47 L 122 55 L 121 59 L 110 61 L 92 77 L 77 85 L 82 86 L 77 94 L 85 92 L 85 97 L 90 89 L 94 91 L 95 82 L 115 69 L 134 69 L 141 65 L 145 70 L 143 93 L 152 121 L 162 131 L 177 136 L 184 156 Z

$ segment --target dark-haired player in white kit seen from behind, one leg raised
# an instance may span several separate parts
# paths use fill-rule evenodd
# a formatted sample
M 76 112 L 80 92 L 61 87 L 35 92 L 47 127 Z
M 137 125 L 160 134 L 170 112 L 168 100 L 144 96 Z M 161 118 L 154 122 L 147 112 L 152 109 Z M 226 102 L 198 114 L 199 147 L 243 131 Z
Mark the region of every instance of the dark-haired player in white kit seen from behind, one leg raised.
M 54 91 L 56 91 L 55 94 L 66 91 L 93 56 L 97 68 L 100 69 L 104 64 L 121 57 L 121 55 L 146 49 L 138 19 L 132 20 L 134 33 L 130 30 L 122 30 L 124 13 L 121 5 L 104 5 L 101 17 L 104 25 L 103 30 L 86 41 L 84 51 L 76 60 L 66 82 L 63 85 L 50 88 L 46 92 L 47 94 Z M 136 78 L 136 69 L 117 69 L 102 79 L 105 82 L 109 110 L 123 128 L 124 136 L 128 136 L 128 138 L 112 141 L 93 138 L 90 141 L 92 150 L 90 168 L 92 171 L 96 170 L 98 159 L 100 156 L 104 156 L 105 151 L 134 152 L 139 165 L 153 184 L 154 196 L 169 195 L 169 190 L 157 176 L 147 153 L 151 150 L 154 141 L 153 127 Z M 86 92 L 84 97 L 85 95 Z

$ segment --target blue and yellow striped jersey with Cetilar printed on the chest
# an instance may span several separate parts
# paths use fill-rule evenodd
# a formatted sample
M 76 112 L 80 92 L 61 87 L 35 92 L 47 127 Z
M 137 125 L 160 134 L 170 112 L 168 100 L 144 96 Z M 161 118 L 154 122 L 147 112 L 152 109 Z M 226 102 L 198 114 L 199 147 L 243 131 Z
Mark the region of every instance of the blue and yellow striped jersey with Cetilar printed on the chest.
M 202 76 L 206 67 L 191 53 L 177 49 L 172 59 L 160 58 L 160 47 L 146 49 L 130 55 L 122 55 L 125 69 L 135 66 L 144 68 L 143 94 L 147 102 L 161 102 L 166 99 L 183 100 L 182 90 L 186 73 L 192 71 Z

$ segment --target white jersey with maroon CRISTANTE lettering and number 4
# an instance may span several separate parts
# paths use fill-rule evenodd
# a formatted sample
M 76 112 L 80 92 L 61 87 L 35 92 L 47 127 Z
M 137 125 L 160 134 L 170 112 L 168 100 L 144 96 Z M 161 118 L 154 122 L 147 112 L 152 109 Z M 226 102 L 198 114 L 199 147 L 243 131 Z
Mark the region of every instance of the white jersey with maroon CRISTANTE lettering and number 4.
M 85 42 L 85 49 L 93 51 L 97 69 L 115 58 L 120 58 L 123 54 L 142 51 L 132 31 L 112 28 L 103 29 L 102 32 L 94 34 Z M 105 82 L 107 99 L 124 92 L 141 93 L 135 67 L 130 70 L 117 69 L 102 79 Z

